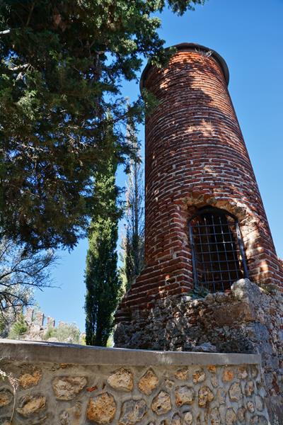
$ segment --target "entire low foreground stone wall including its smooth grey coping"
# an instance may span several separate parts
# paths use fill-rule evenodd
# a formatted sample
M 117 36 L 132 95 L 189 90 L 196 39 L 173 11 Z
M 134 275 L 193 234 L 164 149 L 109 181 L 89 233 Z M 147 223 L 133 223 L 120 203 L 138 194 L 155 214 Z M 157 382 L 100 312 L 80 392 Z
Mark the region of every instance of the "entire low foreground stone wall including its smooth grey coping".
M 0 349 L 1 425 L 13 406 L 16 425 L 270 424 L 257 355 L 8 340 Z

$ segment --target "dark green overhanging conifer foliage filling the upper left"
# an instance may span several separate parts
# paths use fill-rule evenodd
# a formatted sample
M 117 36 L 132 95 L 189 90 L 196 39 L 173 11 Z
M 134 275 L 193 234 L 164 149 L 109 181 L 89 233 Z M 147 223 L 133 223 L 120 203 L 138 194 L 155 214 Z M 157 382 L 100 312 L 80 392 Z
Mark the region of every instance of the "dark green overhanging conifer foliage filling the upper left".
M 168 0 L 182 14 L 201 0 Z M 151 17 L 166 1 L 0 1 L 0 226 L 33 249 L 72 247 L 93 214 L 91 176 L 111 152 L 103 142 L 110 111 L 117 162 L 133 154 L 120 81 L 135 79 L 141 57 L 166 62 Z

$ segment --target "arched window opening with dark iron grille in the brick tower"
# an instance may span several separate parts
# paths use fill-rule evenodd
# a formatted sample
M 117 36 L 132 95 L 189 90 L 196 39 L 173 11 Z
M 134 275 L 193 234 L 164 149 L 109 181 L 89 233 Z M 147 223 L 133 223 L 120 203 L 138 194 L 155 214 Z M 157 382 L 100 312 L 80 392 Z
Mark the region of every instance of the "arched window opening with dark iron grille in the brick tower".
M 202 208 L 189 221 L 195 285 L 210 292 L 248 278 L 238 220 L 219 208 Z

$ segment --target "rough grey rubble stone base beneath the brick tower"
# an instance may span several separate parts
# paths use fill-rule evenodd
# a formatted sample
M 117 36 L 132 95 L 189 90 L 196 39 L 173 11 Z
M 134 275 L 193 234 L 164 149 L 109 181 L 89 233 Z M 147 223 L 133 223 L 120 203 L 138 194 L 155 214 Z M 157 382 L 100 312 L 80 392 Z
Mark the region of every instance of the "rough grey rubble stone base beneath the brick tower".
M 239 280 L 226 293 L 184 295 L 132 310 L 115 331 L 116 346 L 172 351 L 260 353 L 268 407 L 283 424 L 283 294 Z

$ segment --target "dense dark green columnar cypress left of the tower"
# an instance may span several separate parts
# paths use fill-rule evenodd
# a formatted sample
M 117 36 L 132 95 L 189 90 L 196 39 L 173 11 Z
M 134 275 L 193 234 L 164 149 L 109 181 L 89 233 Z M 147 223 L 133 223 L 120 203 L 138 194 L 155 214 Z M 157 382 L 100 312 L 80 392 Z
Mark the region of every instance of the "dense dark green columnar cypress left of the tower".
M 108 132 L 108 142 L 114 137 Z M 113 327 L 113 312 L 120 296 L 117 273 L 118 190 L 115 185 L 117 159 L 110 149 L 108 159 L 96 172 L 96 210 L 88 233 L 86 256 L 86 344 L 106 346 Z

